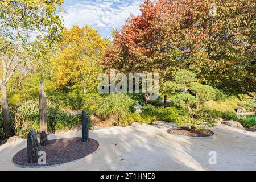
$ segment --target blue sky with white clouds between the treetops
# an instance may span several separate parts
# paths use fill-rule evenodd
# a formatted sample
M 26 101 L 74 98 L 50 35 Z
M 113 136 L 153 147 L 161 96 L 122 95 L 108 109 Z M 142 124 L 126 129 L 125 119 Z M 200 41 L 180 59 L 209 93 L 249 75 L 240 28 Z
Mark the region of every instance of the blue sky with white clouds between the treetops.
M 112 28 L 118 30 L 130 16 L 141 14 L 139 5 L 143 0 L 64 0 L 62 9 L 64 26 L 72 28 L 88 24 L 108 38 Z

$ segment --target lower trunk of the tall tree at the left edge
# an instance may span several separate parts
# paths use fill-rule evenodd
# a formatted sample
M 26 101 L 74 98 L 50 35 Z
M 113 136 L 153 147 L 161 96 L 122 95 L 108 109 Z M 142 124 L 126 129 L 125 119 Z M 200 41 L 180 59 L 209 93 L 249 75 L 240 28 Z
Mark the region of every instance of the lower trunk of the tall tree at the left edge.
M 7 101 L 7 88 L 5 84 L 1 85 L 1 109 L 2 109 L 2 117 L 3 117 L 3 131 L 5 132 L 5 137 L 11 137 L 11 129 L 10 129 L 10 111 Z

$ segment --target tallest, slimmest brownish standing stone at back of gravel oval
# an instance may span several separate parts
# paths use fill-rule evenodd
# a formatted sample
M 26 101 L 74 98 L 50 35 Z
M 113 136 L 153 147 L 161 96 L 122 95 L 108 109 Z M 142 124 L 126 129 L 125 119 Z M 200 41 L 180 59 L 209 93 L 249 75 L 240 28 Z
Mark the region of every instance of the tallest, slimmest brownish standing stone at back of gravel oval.
M 44 92 L 43 80 L 39 83 L 39 115 L 40 115 L 40 144 L 46 146 L 47 139 L 47 121 L 46 121 L 46 93 Z

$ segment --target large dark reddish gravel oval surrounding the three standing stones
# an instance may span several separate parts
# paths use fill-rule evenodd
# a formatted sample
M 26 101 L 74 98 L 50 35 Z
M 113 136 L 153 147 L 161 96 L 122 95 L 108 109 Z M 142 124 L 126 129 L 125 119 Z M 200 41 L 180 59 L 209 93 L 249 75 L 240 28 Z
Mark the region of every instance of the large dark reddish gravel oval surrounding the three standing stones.
M 48 140 L 47 146 L 40 146 L 41 151 L 46 152 L 46 164 L 27 162 L 27 147 L 23 148 L 13 157 L 13 162 L 21 167 L 42 167 L 63 164 L 84 158 L 92 154 L 98 148 L 98 142 L 94 139 L 88 139 L 88 142 L 82 143 L 82 138 L 63 138 Z

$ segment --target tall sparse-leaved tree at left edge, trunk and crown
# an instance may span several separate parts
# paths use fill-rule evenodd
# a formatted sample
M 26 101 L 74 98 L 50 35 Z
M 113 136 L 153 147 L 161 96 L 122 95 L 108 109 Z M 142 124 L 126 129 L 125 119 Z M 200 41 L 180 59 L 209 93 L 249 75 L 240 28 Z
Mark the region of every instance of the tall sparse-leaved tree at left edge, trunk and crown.
M 63 0 L 8 0 L 0 1 L 0 59 L 1 109 L 6 137 L 11 131 L 7 82 L 20 65 L 26 64 L 30 44 L 44 39 L 48 44 L 58 39 L 62 20 L 56 15 L 57 5 Z

